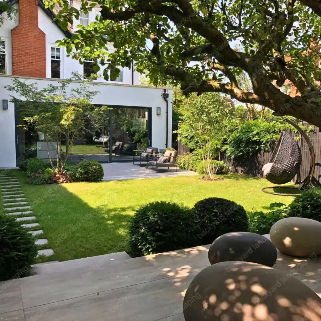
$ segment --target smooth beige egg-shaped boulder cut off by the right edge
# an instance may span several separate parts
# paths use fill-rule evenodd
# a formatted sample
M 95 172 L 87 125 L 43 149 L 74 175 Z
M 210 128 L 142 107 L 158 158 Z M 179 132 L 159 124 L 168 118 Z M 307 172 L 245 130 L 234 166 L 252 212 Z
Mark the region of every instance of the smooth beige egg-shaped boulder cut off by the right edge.
M 287 217 L 273 224 L 270 239 L 283 254 L 321 255 L 321 223 L 303 217 Z

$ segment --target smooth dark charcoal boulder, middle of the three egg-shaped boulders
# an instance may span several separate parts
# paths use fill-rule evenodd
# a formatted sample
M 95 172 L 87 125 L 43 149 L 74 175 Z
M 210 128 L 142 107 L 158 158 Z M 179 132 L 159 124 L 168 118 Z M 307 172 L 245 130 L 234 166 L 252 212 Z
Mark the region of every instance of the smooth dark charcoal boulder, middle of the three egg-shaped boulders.
M 225 261 L 246 261 L 273 266 L 278 254 L 273 243 L 250 232 L 231 232 L 218 237 L 208 251 L 211 264 Z

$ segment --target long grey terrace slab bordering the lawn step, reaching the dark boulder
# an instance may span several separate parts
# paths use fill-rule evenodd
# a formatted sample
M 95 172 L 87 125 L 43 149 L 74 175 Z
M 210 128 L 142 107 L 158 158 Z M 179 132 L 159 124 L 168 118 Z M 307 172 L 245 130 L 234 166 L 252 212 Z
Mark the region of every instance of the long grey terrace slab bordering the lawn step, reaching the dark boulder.
M 81 267 L 64 273 L 53 272 L 23 278 L 20 282 L 23 305 L 29 308 L 37 304 L 200 272 L 209 265 L 207 251 L 206 247 L 197 247 L 190 251 L 181 250 L 148 258 L 137 257 L 121 262 L 115 260 L 105 268 Z M 200 256 L 200 252 L 205 254 Z

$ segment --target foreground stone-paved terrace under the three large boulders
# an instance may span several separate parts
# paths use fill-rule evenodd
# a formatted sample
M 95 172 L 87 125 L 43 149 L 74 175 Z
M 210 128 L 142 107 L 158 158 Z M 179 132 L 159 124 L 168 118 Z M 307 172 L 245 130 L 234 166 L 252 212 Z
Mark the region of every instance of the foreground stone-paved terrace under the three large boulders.
M 208 247 L 138 258 L 120 252 L 39 265 L 38 275 L 0 283 L 0 320 L 184 321 L 184 294 L 195 275 L 209 266 Z M 279 253 L 274 268 L 321 296 L 321 257 Z

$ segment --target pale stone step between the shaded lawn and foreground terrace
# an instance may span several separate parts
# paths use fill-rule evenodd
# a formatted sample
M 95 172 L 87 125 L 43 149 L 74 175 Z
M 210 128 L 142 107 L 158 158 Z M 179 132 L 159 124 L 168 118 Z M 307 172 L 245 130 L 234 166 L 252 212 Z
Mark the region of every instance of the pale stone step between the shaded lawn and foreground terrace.
M 128 259 L 131 259 L 131 257 L 126 252 L 117 252 L 99 256 L 91 256 L 71 261 L 46 264 L 45 266 L 37 265 L 32 268 L 32 274 L 38 275 L 53 272 L 63 272 L 73 270 L 76 268 L 86 268 L 87 270 L 89 268 L 98 269 L 107 267 L 108 264 L 110 264 L 111 262 L 122 262 Z

